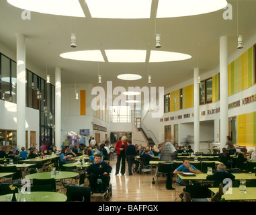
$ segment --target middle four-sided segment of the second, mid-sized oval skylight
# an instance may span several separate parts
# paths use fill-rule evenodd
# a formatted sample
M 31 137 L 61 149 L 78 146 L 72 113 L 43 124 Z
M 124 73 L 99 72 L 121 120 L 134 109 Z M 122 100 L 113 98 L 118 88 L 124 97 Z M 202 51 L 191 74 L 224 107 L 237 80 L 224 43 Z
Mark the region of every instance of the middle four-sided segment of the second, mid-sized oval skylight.
M 146 50 L 105 50 L 108 62 L 145 62 Z

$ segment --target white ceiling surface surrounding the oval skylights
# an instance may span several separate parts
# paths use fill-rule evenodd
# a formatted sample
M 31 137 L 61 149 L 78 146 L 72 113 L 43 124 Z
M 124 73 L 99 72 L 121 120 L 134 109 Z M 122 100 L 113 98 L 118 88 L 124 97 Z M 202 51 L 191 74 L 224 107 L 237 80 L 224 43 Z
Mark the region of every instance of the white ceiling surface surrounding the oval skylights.
M 26 59 L 54 77 L 54 68 L 62 69 L 62 82 L 97 84 L 98 63 L 61 58 L 63 52 L 75 50 L 136 49 L 161 50 L 190 54 L 188 60 L 177 62 L 120 63 L 99 62 L 102 85 L 113 81 L 113 87 L 146 86 L 152 75 L 152 86 L 171 87 L 193 78 L 195 67 L 205 73 L 218 67 L 220 36 L 228 36 L 228 54 L 237 50 L 237 0 L 232 5 L 232 20 L 224 20 L 224 9 L 203 15 L 155 19 L 93 19 L 80 1 L 85 17 L 65 17 L 32 12 L 30 20 L 21 18 L 23 9 L 0 1 L 0 42 L 15 52 L 16 34 L 26 35 Z M 151 11 L 155 11 L 155 1 Z M 155 21 L 161 34 L 161 48 L 155 48 Z M 77 34 L 77 48 L 71 48 L 71 22 Z M 239 34 L 243 42 L 256 33 L 256 1 L 239 0 Z M 46 43 L 48 44 L 46 48 Z M 147 52 L 149 53 L 149 52 Z M 103 56 L 106 59 L 106 56 Z M 13 59 L 15 60 L 15 59 Z M 37 71 L 33 71 L 37 73 Z M 138 81 L 122 81 L 117 75 L 137 73 Z M 46 79 L 46 77 L 44 77 Z

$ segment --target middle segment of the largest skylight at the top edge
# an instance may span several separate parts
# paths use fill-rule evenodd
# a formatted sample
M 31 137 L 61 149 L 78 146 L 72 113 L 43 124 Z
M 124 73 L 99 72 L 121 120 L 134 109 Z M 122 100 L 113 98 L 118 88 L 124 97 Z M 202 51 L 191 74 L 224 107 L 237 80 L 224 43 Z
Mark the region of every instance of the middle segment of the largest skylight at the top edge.
M 91 17 L 105 19 L 149 19 L 151 0 L 85 0 Z

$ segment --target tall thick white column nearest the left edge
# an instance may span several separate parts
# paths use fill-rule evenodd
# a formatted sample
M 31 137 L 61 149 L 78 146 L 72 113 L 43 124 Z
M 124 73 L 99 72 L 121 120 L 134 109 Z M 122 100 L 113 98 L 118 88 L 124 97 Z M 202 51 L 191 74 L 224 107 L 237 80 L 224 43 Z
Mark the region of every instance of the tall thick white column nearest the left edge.
M 26 147 L 26 38 L 17 34 L 17 148 Z M 38 134 L 39 135 L 39 134 Z

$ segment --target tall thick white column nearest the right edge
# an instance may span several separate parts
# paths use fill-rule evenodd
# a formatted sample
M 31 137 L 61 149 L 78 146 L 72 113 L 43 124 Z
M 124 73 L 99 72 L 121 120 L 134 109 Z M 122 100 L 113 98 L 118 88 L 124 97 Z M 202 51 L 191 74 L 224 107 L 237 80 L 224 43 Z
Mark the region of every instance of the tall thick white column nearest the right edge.
M 228 38 L 220 37 L 220 151 L 228 135 Z

